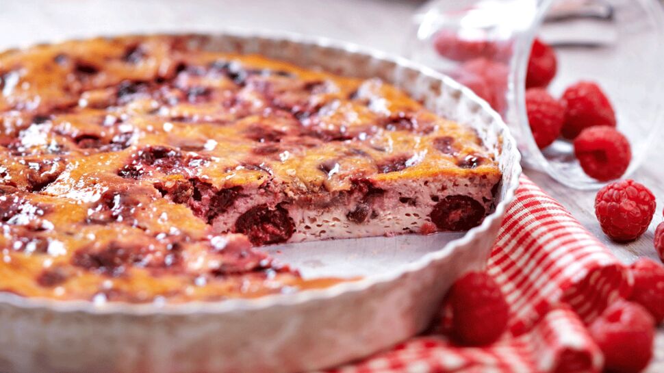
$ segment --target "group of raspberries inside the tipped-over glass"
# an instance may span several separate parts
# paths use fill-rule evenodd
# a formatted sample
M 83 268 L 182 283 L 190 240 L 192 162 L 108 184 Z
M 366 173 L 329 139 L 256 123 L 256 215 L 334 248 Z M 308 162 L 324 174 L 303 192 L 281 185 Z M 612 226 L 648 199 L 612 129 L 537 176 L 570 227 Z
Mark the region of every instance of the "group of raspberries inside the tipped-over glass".
M 433 37 L 433 47 L 448 60 L 460 62 L 450 73 L 485 99 L 497 112 L 505 110 L 510 47 L 489 41 L 481 33 L 461 38 L 450 30 Z M 574 143 L 574 155 L 583 171 L 598 181 L 618 179 L 627 170 L 632 152 L 617 131 L 611 101 L 597 83 L 578 81 L 560 99 L 546 91 L 557 72 L 550 45 L 535 39 L 526 72 L 526 114 L 535 143 L 544 149 L 558 138 Z

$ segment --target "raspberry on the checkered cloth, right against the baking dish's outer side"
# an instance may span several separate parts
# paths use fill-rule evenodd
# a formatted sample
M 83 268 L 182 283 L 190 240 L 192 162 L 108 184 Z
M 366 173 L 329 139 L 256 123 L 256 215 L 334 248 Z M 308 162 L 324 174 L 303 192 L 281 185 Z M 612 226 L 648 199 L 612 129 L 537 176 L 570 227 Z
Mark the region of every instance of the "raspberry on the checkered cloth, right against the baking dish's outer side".
M 452 285 L 453 335 L 462 344 L 494 342 L 507 327 L 509 307 L 496 281 L 484 272 L 465 274 Z

